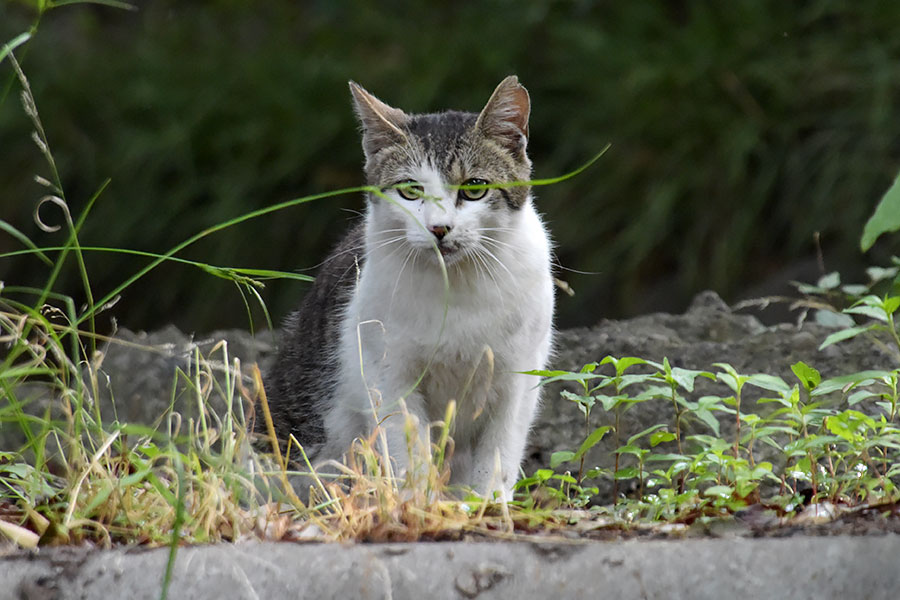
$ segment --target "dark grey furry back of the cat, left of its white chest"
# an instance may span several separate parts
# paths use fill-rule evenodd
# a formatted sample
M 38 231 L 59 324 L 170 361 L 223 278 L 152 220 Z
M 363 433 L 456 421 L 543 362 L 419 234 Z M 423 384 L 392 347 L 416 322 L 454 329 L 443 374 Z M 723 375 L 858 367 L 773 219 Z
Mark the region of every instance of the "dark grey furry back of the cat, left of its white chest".
M 325 441 L 322 407 L 333 394 L 341 322 L 363 254 L 360 222 L 325 260 L 300 307 L 285 320 L 278 355 L 265 378 L 269 409 L 281 440 L 293 433 L 304 445 Z M 256 430 L 265 430 L 260 418 Z

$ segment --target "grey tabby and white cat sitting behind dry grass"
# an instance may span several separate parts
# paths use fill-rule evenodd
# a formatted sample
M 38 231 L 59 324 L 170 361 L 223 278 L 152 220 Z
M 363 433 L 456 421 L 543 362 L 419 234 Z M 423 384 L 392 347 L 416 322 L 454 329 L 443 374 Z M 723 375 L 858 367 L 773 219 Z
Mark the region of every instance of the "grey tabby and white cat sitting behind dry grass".
M 266 376 L 277 437 L 293 434 L 314 464 L 339 460 L 378 419 L 402 474 L 404 411 L 427 444 L 455 400 L 450 483 L 509 500 L 539 402 L 520 372 L 546 366 L 553 335 L 528 92 L 510 76 L 478 114 L 407 114 L 349 85 L 380 193 L 286 320 Z

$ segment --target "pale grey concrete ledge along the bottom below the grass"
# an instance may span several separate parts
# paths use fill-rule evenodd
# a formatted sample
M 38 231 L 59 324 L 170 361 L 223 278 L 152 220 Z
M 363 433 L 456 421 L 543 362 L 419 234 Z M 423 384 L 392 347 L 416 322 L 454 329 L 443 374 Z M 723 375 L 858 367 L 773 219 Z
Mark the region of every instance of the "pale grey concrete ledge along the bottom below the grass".
M 179 549 L 169 598 L 896 598 L 900 535 Z M 168 550 L 0 561 L 0 599 L 160 598 Z

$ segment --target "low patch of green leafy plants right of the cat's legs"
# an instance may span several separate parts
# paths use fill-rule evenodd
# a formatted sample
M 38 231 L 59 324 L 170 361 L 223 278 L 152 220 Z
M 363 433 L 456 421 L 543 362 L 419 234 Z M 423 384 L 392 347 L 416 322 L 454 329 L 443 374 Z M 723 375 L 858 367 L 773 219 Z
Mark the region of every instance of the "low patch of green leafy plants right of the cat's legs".
M 599 373 L 599 365 L 615 365 L 615 371 Z M 627 375 L 630 384 L 623 389 L 622 378 L 632 365 L 647 367 L 648 372 Z M 816 369 L 798 362 L 792 366 L 798 383 L 789 385 L 772 375 L 741 374 L 725 363 L 714 366 L 716 373 L 680 369 L 668 361 L 658 364 L 606 357 L 577 373 L 532 372 L 546 377 L 544 385 L 579 382 L 584 394 L 574 399 L 580 406 L 595 407 L 592 413 L 583 411 L 586 417 L 593 414 L 596 418 L 596 406 L 600 406 L 600 421 L 614 423 L 593 431 L 623 434 L 618 425 L 620 407 L 648 401 L 673 403 L 672 423 L 659 423 L 631 435 L 624 445 L 616 442 L 614 468 L 594 468 L 586 477 L 572 479 L 581 486 L 573 488 L 576 494 L 590 480 L 612 478 L 614 489 L 622 483 L 634 483 L 633 497 L 614 493 L 618 514 L 665 520 L 731 513 L 759 502 L 791 512 L 800 504 L 804 485 L 811 487 L 814 501 L 856 503 L 896 498 L 896 476 L 900 474 L 896 385 L 900 371 L 865 371 L 822 380 Z M 732 394 L 696 400 L 683 396 L 694 392 L 698 377 L 725 384 Z M 760 398 L 758 406 L 763 409 L 774 403 L 776 408 L 748 410 L 742 403 L 747 385 L 775 392 Z M 606 387 L 613 387 L 616 395 L 603 394 Z M 837 393 L 840 399 L 835 401 L 832 397 Z M 562 394 L 573 399 L 570 392 Z M 851 408 L 870 400 L 875 401 L 879 412 L 875 416 Z M 734 415 L 731 441 L 720 436 L 716 413 Z M 683 435 L 685 422 L 703 424 L 711 434 Z M 583 464 L 585 450 L 601 439 L 602 435 L 596 439 L 588 436 L 577 452 L 555 453 L 551 466 L 558 468 L 574 460 Z M 756 458 L 754 444 L 758 442 L 775 450 L 772 459 Z M 674 443 L 676 451 L 658 452 L 657 447 L 667 443 Z M 627 466 L 620 465 L 623 457 L 629 458 Z M 781 467 L 776 468 L 776 464 Z M 563 473 L 563 477 L 568 476 Z M 545 470 L 539 479 L 550 482 L 554 474 Z M 775 484 L 777 491 L 764 495 L 765 486 L 771 489 Z M 559 497 L 563 491 L 557 488 L 554 495 Z M 577 495 L 574 502 L 584 503 Z

